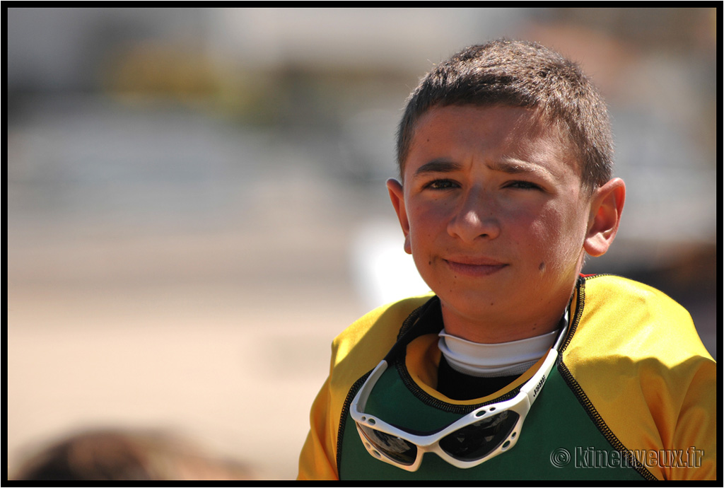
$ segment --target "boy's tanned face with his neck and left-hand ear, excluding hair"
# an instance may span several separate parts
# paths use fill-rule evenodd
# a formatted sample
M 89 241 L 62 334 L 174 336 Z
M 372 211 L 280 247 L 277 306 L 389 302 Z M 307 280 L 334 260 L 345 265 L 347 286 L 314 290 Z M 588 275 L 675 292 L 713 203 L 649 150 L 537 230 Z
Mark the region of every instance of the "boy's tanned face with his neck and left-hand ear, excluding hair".
M 448 332 L 502 342 L 557 324 L 592 219 L 566 141 L 510 106 L 435 107 L 418 121 L 404 185 L 388 187 Z

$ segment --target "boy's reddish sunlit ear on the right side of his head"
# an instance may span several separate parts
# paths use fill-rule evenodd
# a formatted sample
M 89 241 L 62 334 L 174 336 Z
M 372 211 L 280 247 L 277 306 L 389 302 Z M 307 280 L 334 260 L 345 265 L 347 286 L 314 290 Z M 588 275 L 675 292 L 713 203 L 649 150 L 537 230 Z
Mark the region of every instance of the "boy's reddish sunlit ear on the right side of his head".
M 613 178 L 597 188 L 591 198 L 589 227 L 584 249 L 589 256 L 603 256 L 613 243 L 626 199 L 626 185 L 620 178 Z

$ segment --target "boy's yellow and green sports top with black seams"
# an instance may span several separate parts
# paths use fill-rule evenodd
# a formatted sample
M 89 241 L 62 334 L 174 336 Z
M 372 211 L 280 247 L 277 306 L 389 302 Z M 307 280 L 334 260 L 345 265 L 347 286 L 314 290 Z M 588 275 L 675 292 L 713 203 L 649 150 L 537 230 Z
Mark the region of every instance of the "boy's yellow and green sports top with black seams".
M 515 447 L 468 469 L 432 453 L 415 472 L 372 458 L 349 415 L 350 402 L 431 299 L 377 308 L 334 340 L 299 479 L 715 479 L 715 361 L 678 303 L 611 275 L 579 280 L 557 365 Z M 492 395 L 451 400 L 436 390 L 437 340 L 424 334 L 407 346 L 385 372 L 392 386 L 384 398 L 369 401 L 376 408 L 369 413 L 405 430 L 433 432 L 515 394 L 541 362 Z

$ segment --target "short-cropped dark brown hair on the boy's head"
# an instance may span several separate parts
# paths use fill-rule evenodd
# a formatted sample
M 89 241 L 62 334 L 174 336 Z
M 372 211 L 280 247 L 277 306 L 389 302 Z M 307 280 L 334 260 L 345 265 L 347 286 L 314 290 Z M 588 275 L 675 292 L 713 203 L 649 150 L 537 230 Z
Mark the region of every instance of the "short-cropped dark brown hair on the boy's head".
M 533 109 L 568 135 L 584 188 L 592 192 L 610 180 L 613 135 L 605 101 L 578 64 L 539 43 L 501 39 L 470 46 L 425 75 L 397 130 L 400 177 L 420 117 L 449 105 Z

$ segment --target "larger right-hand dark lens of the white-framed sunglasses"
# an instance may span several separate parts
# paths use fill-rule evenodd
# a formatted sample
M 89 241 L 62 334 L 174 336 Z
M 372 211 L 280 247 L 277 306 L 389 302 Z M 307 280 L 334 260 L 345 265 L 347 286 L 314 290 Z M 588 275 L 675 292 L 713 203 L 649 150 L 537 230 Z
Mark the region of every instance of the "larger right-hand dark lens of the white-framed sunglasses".
M 473 461 L 492 453 L 513 432 L 518 413 L 503 411 L 464 426 L 440 439 L 440 447 L 453 458 Z

